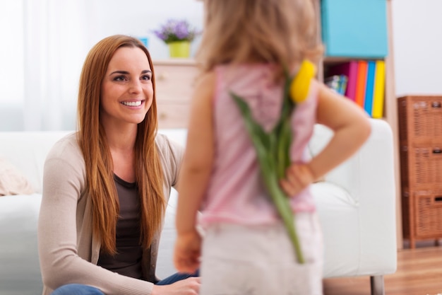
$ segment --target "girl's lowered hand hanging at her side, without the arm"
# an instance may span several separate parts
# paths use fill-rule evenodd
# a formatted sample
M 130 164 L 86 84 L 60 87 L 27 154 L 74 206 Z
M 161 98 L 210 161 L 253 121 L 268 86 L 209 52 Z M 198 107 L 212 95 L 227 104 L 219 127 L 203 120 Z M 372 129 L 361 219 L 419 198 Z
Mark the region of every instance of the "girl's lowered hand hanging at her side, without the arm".
M 174 264 L 179 272 L 193 273 L 200 267 L 201 236 L 195 229 L 178 233 L 175 242 Z

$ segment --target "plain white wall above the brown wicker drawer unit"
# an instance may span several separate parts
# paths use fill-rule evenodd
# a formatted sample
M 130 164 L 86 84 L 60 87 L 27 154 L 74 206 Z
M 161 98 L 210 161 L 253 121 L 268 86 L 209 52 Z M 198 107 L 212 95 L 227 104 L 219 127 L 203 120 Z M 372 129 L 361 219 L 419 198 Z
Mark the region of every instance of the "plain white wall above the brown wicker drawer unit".
M 442 1 L 392 0 L 396 96 L 442 95 Z

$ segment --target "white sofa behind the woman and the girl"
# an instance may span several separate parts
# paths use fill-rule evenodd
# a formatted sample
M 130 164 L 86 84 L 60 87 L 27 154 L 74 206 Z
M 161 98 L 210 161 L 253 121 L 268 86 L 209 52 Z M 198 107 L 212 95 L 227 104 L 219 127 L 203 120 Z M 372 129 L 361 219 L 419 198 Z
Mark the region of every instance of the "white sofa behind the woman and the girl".
M 323 227 L 323 277 L 371 277 L 371 294 L 381 295 L 383 275 L 396 270 L 395 181 L 393 134 L 383 120 L 371 119 L 372 133 L 362 149 L 313 185 Z M 185 129 L 161 133 L 184 143 Z M 37 217 L 44 158 L 54 142 L 68 132 L 0 132 L 0 158 L 25 175 L 37 190 L 32 195 L 0 197 L 0 295 L 40 294 L 37 257 Z M 331 132 L 315 127 L 309 144 L 318 153 Z M 157 275 L 174 272 L 172 248 L 173 192 L 160 241 Z

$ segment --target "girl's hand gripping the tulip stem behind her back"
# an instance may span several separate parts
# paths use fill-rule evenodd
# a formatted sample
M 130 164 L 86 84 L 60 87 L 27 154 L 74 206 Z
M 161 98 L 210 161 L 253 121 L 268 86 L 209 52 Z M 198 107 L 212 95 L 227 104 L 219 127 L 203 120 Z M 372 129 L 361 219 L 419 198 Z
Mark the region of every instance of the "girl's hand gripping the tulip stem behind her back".
M 285 179 L 280 180 L 282 190 L 292 197 L 313 183 L 315 176 L 306 164 L 292 164 L 285 171 Z

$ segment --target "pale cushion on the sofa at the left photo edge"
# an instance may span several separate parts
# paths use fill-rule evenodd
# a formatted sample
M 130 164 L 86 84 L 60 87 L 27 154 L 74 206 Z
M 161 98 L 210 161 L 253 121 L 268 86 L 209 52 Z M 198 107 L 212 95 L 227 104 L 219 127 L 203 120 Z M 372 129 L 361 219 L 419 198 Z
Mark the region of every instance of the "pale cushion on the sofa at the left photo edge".
M 24 175 L 6 159 L 0 158 L 0 196 L 30 195 L 35 190 Z

